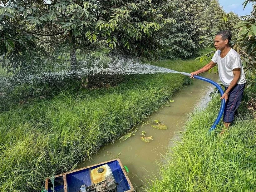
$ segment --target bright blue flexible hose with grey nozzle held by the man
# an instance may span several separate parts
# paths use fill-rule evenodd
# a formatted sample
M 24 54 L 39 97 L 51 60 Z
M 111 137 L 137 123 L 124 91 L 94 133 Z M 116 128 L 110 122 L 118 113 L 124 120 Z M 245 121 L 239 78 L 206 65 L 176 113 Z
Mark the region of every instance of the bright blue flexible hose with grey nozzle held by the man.
M 180 72 L 180 74 L 186 75 L 186 76 L 191 76 L 190 73 L 185 73 L 185 72 Z M 210 79 L 207 79 L 207 78 L 198 76 L 198 75 L 194 75 L 193 77 L 194 77 L 195 79 L 200 79 L 200 80 L 203 80 L 203 81 L 206 81 L 206 82 L 208 82 L 208 83 L 213 84 L 215 87 L 217 87 L 217 89 L 219 90 L 221 96 L 224 94 L 224 91 L 222 90 L 221 86 L 219 86 L 218 83 L 216 83 L 216 82 L 214 82 L 214 81 L 212 81 L 212 80 L 210 80 Z M 214 121 L 214 123 L 213 123 L 213 125 L 211 126 L 211 128 L 210 128 L 209 131 L 213 131 L 213 130 L 216 128 L 216 126 L 219 124 L 219 121 L 220 121 L 220 119 L 221 119 L 221 116 L 222 116 L 222 114 L 223 114 L 223 112 L 224 112 L 224 107 L 225 107 L 225 99 L 222 99 L 222 100 L 221 100 L 220 110 L 219 110 L 219 114 L 218 114 L 218 116 L 217 116 L 217 119 Z

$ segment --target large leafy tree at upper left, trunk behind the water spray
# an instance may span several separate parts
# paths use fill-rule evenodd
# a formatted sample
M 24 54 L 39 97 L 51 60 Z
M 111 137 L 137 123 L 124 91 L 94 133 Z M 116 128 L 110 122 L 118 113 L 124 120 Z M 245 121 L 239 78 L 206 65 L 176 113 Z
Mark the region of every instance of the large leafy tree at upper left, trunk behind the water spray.
M 156 32 L 174 22 L 162 14 L 169 9 L 165 2 L 11 0 L 0 7 L 3 66 L 15 70 L 23 65 L 20 56 L 36 53 L 39 57 L 38 52 L 46 50 L 41 45 L 50 43 L 54 47 L 67 44 L 71 69 L 76 69 L 76 49 L 87 49 L 101 40 L 111 49 L 125 47 L 152 59 L 160 47 Z

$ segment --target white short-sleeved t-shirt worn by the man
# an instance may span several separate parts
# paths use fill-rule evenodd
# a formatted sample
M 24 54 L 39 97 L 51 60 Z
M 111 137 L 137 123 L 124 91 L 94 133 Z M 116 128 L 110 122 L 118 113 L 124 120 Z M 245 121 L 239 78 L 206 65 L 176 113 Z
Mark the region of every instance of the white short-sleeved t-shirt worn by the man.
M 241 75 L 237 84 L 246 83 L 241 57 L 234 49 L 230 49 L 224 58 L 220 57 L 220 50 L 216 51 L 212 58 L 212 62 L 218 64 L 219 78 L 224 86 L 228 87 L 233 80 L 234 75 L 232 70 L 235 68 L 241 68 Z

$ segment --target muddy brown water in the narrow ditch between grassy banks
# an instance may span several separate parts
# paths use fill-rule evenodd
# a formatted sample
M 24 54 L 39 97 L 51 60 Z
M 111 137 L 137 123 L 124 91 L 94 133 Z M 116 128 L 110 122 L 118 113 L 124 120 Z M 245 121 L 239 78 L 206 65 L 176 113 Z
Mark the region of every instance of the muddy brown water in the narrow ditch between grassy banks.
M 205 73 L 204 77 L 219 81 L 219 76 Z M 209 94 L 214 90 L 214 86 L 201 80 L 194 80 L 194 84 L 185 86 L 162 108 L 153 113 L 149 118 L 137 126 L 137 132 L 127 140 L 102 147 L 90 160 L 86 160 L 77 168 L 101 163 L 103 161 L 120 158 L 123 165 L 130 171 L 129 178 L 136 191 L 142 191 L 143 186 L 151 183 L 150 178 L 158 176 L 159 165 L 162 157 L 166 153 L 166 146 L 173 146 L 173 139 L 177 137 L 178 131 L 185 130 L 184 124 L 188 121 L 189 113 L 195 109 L 206 107 L 210 101 Z M 156 125 L 154 120 L 159 120 L 165 124 L 167 130 L 159 130 L 151 127 Z M 213 121 L 213 120 L 209 120 Z M 145 143 L 140 139 L 140 134 L 145 131 L 147 136 L 153 136 L 154 140 Z

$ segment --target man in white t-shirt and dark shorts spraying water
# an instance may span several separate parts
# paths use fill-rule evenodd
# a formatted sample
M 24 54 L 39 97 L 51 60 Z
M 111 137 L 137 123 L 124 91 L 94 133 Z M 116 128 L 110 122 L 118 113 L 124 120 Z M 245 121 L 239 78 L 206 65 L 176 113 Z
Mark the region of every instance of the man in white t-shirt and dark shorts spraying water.
M 234 116 L 242 100 L 246 83 L 241 57 L 234 49 L 229 47 L 231 37 L 230 31 L 217 33 L 214 39 L 214 46 L 217 51 L 211 62 L 191 73 L 192 78 L 194 75 L 208 71 L 218 64 L 219 78 L 225 86 L 224 94 L 220 97 L 220 99 L 225 99 L 226 101 L 223 114 L 225 129 L 228 129 L 230 123 L 234 121 Z M 223 134 L 225 129 L 220 134 Z

